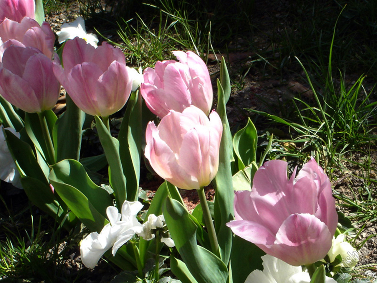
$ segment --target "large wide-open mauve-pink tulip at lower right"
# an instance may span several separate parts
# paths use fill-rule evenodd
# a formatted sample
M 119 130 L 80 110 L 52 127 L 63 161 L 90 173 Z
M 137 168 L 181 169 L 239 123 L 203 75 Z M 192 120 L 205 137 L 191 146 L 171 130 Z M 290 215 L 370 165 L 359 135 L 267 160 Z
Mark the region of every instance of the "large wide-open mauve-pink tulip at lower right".
M 331 184 L 312 157 L 297 177 L 287 162 L 272 160 L 257 170 L 250 191 L 234 198 L 234 234 L 290 265 L 314 263 L 331 248 L 338 215 Z

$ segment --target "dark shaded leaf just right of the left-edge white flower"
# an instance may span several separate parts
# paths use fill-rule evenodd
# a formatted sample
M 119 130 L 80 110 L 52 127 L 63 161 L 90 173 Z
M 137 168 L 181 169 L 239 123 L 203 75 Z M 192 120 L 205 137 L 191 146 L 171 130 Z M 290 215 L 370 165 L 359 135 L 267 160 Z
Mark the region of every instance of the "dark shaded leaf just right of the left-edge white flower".
M 19 168 L 21 176 L 32 177 L 48 185 L 49 183 L 38 164 L 31 146 L 8 130 L 4 130 L 4 134 L 9 151 Z

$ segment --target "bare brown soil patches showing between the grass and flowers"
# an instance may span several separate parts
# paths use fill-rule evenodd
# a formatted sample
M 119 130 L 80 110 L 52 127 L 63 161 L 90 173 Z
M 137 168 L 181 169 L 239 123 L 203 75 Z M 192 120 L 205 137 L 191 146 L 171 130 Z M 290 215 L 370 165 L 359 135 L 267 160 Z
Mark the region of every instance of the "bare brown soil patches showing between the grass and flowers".
M 279 13 L 278 9 L 276 13 Z M 61 11 L 61 13 L 48 14 L 46 15 L 46 20 L 51 24 L 54 31 L 59 30 L 59 27 L 64 22 L 72 22 L 78 15 L 80 15 L 80 5 L 77 2 L 70 3 L 67 9 Z M 268 21 L 270 19 L 261 15 L 259 19 L 259 25 L 268 28 Z M 87 26 L 88 32 L 93 32 L 93 27 Z M 261 48 L 268 46 L 264 35 L 255 35 L 256 41 L 259 42 Z M 116 41 L 115 38 L 112 38 Z M 265 46 L 264 46 L 265 45 Z M 266 47 L 267 48 L 267 47 Z M 220 54 L 216 54 L 218 58 Z M 268 111 L 270 109 L 281 109 L 282 105 L 285 105 L 291 101 L 293 97 L 300 96 L 306 100 L 313 101 L 313 92 L 309 89 L 307 82 L 302 79 L 303 74 L 300 72 L 292 74 L 274 74 L 272 70 L 267 68 L 259 68 L 260 66 L 254 66 L 248 59 L 253 54 L 250 52 L 244 53 L 234 53 L 227 56 L 227 65 L 231 77 L 244 76 L 242 80 L 242 85 L 238 88 L 233 88 L 229 103 L 227 105 L 227 114 L 229 118 L 229 123 L 232 130 L 235 131 L 239 126 L 243 126 L 248 117 L 251 117 L 253 121 L 257 121 L 260 124 L 256 124 L 257 129 L 261 130 L 260 127 L 266 127 L 262 125 L 265 122 L 264 118 L 258 118 L 255 114 L 245 111 L 247 109 L 256 109 L 259 111 Z M 218 78 L 219 68 L 215 60 L 215 55 L 209 55 L 208 68 L 210 70 L 211 79 L 213 80 L 214 92 L 216 92 L 216 78 Z M 247 72 L 245 72 L 247 70 Z M 271 71 L 271 72 L 270 72 Z M 357 78 L 358 74 L 351 75 L 350 77 Z M 64 95 L 64 93 L 62 93 Z M 64 98 L 61 99 L 59 106 L 60 109 L 64 110 Z M 275 113 L 279 115 L 279 112 Z M 284 135 L 284 132 L 281 133 Z M 288 136 L 288 133 L 287 133 Z M 328 172 L 329 177 L 334 183 L 334 196 L 344 195 L 349 197 L 351 200 L 354 199 L 352 191 L 362 192 L 363 199 L 357 201 L 368 201 L 369 198 L 375 198 L 375 183 L 365 183 L 365 174 L 369 174 L 369 177 L 376 180 L 376 170 L 377 168 L 377 147 L 372 146 L 371 148 L 365 148 L 366 154 L 362 154 L 361 151 L 351 152 L 346 158 L 351 159 L 356 162 L 354 164 L 344 161 L 341 166 L 342 169 L 334 169 L 333 172 Z M 367 160 L 367 157 L 370 159 Z M 369 162 L 369 171 L 365 171 L 357 163 L 365 164 Z M 149 175 L 150 177 L 150 175 Z M 144 190 L 149 191 L 149 197 L 153 197 L 154 192 L 162 183 L 162 179 L 158 176 L 152 176 L 150 178 L 145 178 L 145 181 L 141 181 L 141 187 Z M 2 186 L 3 187 L 3 186 Z M 198 197 L 195 191 L 181 190 L 182 199 L 185 205 L 192 211 L 196 205 L 198 205 Z M 206 195 L 209 200 L 214 197 L 214 190 L 211 188 L 206 189 Z M 25 200 L 24 200 L 25 201 Z M 355 216 L 354 209 L 345 206 L 343 201 L 337 198 L 337 209 L 343 212 L 348 217 Z M 374 213 L 377 218 L 377 212 L 365 211 L 366 214 Z M 360 246 L 358 249 L 363 249 L 362 256 L 360 256 L 359 262 L 363 265 L 366 263 L 373 264 L 375 266 L 377 261 L 377 247 L 376 247 L 376 224 L 375 222 L 360 222 L 353 223 L 357 228 L 356 232 L 360 228 L 362 232 L 357 235 L 356 243 Z M 352 234 L 352 233 L 351 233 Z M 352 237 L 356 237 L 356 234 L 352 234 Z M 1 239 L 1 238 L 0 238 Z M 368 240 L 367 240 L 368 239 Z M 366 241 L 365 241 L 366 240 Z M 365 241 L 365 243 L 364 243 Z M 69 258 L 65 260 L 64 265 L 66 266 L 66 272 L 78 272 L 83 269 L 80 260 L 80 252 L 77 248 L 69 249 Z M 359 265 L 360 265 L 359 263 Z M 376 269 L 372 269 L 377 271 Z M 85 278 L 77 281 L 80 283 L 105 283 L 109 282 L 116 274 L 118 270 L 111 270 L 107 263 L 100 261 L 99 265 L 90 271 L 87 271 Z M 365 274 L 364 270 L 359 271 L 360 274 Z M 369 273 L 368 275 L 373 276 Z M 370 277 L 371 278 L 371 277 Z M 371 278 L 372 279 L 372 278 Z

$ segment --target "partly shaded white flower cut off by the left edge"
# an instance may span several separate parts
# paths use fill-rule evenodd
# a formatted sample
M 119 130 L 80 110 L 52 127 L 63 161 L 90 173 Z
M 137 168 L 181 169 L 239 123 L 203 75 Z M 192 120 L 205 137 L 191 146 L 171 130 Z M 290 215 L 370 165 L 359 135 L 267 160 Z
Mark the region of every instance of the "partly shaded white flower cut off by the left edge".
M 0 179 L 11 183 L 17 188 L 22 188 L 20 174 L 16 169 L 11 152 L 9 152 L 8 145 L 6 144 L 3 128 L 3 125 L 0 125 Z M 5 129 L 11 131 L 16 137 L 20 137 L 20 134 L 15 129 Z

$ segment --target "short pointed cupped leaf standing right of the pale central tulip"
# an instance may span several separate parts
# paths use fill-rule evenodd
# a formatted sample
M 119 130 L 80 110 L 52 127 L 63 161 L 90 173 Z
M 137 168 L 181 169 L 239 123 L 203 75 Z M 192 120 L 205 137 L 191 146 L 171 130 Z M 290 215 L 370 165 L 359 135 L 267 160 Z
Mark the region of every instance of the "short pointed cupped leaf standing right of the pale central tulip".
M 245 128 L 236 132 L 233 138 L 233 150 L 238 157 L 239 170 L 256 162 L 257 139 L 257 130 L 248 118 Z

